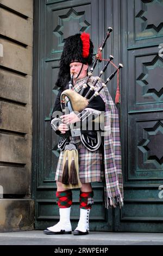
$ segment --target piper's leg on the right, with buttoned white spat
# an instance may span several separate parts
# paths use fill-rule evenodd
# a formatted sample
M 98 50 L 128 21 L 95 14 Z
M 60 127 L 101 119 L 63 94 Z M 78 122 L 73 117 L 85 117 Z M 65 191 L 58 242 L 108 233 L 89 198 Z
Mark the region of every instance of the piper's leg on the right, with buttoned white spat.
M 93 204 L 93 191 L 90 183 L 82 184 L 80 191 L 80 219 L 74 235 L 89 234 L 89 214 Z

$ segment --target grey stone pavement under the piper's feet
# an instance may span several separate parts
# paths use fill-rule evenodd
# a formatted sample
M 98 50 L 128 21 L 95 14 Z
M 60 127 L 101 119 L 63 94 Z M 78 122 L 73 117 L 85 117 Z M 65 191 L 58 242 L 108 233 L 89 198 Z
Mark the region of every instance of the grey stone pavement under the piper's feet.
M 110 246 L 163 245 L 163 233 L 90 232 L 89 235 L 46 235 L 42 230 L 0 233 L 0 245 Z

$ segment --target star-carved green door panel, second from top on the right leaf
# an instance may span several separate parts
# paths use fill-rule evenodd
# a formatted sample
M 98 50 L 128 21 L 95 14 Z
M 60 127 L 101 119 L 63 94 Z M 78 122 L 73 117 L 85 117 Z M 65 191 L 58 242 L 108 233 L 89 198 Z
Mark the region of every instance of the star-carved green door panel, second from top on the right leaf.
M 129 111 L 150 111 L 163 107 L 163 60 L 158 46 L 128 52 Z M 133 77 L 134 75 L 134 77 Z M 134 78 L 134 81 L 133 81 Z M 134 82 L 134 87 L 130 86 Z M 158 105 L 159 103 L 159 105 Z

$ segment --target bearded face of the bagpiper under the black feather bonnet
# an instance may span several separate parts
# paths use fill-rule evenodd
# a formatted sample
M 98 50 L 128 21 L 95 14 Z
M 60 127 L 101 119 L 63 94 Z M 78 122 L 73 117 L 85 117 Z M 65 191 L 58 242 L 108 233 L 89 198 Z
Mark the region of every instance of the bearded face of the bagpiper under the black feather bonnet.
M 74 81 L 80 80 L 80 79 L 84 78 L 87 75 L 88 65 L 84 64 L 83 65 L 83 69 L 80 72 L 81 68 L 82 68 L 82 63 L 80 63 L 80 62 L 72 62 L 72 63 L 70 63 L 70 73 L 74 74 L 73 75 L 73 80 Z M 80 75 L 78 76 L 79 72 L 80 72 Z M 78 76 L 78 78 L 77 78 L 77 76 Z

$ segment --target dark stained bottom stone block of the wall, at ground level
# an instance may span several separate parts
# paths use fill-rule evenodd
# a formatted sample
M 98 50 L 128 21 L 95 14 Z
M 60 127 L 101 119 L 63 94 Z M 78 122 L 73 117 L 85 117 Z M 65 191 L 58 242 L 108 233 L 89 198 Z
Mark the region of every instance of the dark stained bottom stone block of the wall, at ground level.
M 0 232 L 34 229 L 34 200 L 0 199 Z

